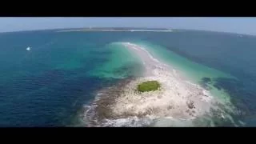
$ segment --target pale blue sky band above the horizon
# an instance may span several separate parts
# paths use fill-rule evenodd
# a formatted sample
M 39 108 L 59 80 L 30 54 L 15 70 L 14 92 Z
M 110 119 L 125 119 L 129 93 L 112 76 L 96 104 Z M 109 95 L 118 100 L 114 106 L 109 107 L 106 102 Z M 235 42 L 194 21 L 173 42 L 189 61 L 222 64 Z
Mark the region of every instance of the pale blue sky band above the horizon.
M 252 18 L 0 18 L 0 32 L 70 27 L 161 27 L 190 30 L 213 30 L 239 34 L 256 34 L 256 17 Z

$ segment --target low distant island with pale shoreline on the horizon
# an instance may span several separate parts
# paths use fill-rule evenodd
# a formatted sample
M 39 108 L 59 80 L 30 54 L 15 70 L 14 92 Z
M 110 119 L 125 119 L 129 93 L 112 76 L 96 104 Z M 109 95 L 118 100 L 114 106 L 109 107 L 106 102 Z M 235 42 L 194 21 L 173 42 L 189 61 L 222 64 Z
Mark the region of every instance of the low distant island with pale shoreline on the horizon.
M 171 32 L 172 30 L 166 28 L 134 28 L 134 27 L 89 27 L 89 28 L 72 28 L 66 30 L 58 30 L 58 32 L 70 31 L 154 31 L 154 32 Z

